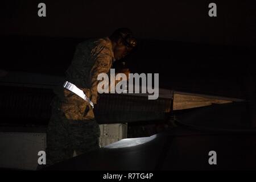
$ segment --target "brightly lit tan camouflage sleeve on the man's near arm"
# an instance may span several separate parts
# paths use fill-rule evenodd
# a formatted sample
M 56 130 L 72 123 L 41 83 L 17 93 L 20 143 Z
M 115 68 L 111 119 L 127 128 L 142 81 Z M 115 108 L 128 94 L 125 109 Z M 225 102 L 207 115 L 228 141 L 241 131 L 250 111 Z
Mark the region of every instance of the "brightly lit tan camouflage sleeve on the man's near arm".
M 97 77 L 100 73 L 108 73 L 112 66 L 113 57 L 110 55 L 110 48 L 106 46 L 98 46 L 93 53 L 93 59 L 95 59 L 95 64 L 91 70 L 91 92 L 92 92 L 92 102 L 97 103 L 97 87 L 100 80 Z

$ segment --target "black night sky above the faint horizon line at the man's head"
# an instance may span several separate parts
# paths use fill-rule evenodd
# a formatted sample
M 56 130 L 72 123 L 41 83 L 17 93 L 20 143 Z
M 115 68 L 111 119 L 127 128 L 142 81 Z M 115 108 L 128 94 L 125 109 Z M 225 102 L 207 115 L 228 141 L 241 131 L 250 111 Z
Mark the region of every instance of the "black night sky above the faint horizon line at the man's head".
M 47 16 L 39 18 L 38 3 Z M 2 34 L 91 38 L 130 27 L 142 39 L 246 46 L 255 38 L 255 1 L 2 1 Z

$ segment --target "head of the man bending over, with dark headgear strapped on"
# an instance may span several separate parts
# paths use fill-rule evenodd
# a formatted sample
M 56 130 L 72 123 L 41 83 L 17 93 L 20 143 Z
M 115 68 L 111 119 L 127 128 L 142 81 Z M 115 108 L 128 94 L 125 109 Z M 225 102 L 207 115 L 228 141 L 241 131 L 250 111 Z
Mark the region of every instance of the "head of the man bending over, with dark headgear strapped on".
M 125 57 L 137 45 L 137 40 L 129 28 L 118 28 L 109 38 L 113 44 L 115 60 Z

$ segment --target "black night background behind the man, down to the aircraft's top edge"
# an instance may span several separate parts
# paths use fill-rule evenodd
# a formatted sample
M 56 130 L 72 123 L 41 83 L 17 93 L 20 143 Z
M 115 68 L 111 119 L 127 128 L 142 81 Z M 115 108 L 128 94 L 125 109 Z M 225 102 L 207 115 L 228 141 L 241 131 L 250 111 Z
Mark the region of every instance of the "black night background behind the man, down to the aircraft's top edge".
M 41 2 L 41 1 L 40 1 Z M 255 1 L 39 1 L 1 3 L 2 69 L 64 75 L 75 46 L 129 27 L 131 72 L 160 73 L 160 87 L 246 97 L 255 79 Z

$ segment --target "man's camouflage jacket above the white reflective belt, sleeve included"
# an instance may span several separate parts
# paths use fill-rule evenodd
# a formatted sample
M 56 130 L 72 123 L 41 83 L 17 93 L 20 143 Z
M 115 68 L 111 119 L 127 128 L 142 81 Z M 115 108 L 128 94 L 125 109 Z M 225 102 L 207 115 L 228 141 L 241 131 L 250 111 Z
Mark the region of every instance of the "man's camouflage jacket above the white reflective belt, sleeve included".
M 78 44 L 72 63 L 65 72 L 67 81 L 84 90 L 94 104 L 97 103 L 97 77 L 108 73 L 114 61 L 111 40 L 90 39 Z

